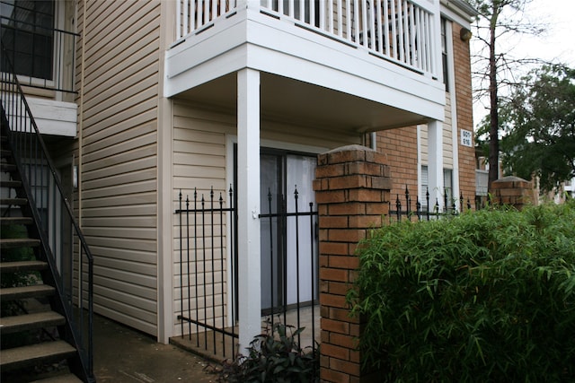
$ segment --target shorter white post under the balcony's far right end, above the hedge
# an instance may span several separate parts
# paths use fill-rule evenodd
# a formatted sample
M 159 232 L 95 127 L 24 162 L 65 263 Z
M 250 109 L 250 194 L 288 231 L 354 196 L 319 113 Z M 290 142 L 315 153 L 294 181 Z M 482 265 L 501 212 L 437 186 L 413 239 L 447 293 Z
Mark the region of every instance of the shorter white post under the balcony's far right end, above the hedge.
M 443 204 L 443 123 L 433 121 L 428 124 L 428 184 L 429 184 L 429 210 L 436 201 L 439 211 Z

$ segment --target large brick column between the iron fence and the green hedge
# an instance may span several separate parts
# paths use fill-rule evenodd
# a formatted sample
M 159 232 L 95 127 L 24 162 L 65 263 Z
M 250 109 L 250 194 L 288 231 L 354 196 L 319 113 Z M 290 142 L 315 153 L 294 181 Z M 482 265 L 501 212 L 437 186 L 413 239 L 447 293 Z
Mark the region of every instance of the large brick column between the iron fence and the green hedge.
M 367 231 L 383 223 L 391 188 L 384 154 L 350 145 L 318 156 L 315 200 L 319 212 L 321 372 L 323 382 L 368 380 L 360 370 L 358 318 L 345 302 L 358 269 L 355 250 Z

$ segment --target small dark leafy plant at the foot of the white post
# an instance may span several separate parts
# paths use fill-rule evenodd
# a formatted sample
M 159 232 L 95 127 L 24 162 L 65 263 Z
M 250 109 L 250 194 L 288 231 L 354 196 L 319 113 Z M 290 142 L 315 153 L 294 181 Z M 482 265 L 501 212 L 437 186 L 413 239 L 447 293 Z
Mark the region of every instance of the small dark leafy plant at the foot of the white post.
M 218 382 L 314 382 L 319 381 L 319 349 L 303 350 L 296 342 L 304 331 L 280 323 L 257 335 L 247 348 L 248 355 L 224 361 L 216 368 Z

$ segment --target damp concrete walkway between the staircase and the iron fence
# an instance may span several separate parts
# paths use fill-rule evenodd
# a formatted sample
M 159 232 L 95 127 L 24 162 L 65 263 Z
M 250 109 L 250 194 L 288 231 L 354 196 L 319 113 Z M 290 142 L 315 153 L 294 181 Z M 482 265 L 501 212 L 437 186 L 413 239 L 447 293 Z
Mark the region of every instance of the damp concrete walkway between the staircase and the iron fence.
M 94 373 L 98 383 L 208 383 L 207 361 L 172 344 L 94 315 Z

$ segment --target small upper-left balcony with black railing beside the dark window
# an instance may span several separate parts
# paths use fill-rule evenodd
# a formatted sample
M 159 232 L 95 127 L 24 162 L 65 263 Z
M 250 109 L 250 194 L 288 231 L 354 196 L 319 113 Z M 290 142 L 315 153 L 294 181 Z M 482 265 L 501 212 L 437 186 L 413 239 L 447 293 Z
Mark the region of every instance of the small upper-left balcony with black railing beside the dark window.
M 7 74 L 6 68 L 15 68 L 41 134 L 74 137 L 77 120 L 75 44 L 79 35 L 41 25 L 42 21 L 52 21 L 46 14 L 43 18 L 37 17 L 40 22 L 30 22 L 31 9 L 21 6 L 6 5 L 6 13 L 13 14 L 0 16 L 0 71 Z M 30 126 L 23 110 L 16 111 L 15 105 L 20 101 L 19 97 L 13 99 L 13 103 L 3 100 L 4 109 L 14 110 Z

